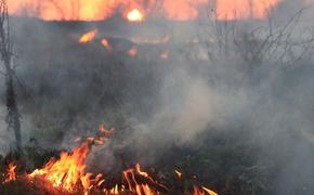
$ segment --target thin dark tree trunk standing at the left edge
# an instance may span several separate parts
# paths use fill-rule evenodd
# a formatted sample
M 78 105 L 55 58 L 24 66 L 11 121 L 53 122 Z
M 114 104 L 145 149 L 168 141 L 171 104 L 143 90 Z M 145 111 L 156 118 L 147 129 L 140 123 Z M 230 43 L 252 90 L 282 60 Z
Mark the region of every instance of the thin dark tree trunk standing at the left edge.
M 10 37 L 10 23 L 8 5 L 5 0 L 0 0 L 0 57 L 4 66 L 6 87 L 6 123 L 8 130 L 14 131 L 16 151 L 21 153 L 21 121 L 17 106 L 16 93 L 14 89 L 14 67 L 12 65 L 12 41 Z

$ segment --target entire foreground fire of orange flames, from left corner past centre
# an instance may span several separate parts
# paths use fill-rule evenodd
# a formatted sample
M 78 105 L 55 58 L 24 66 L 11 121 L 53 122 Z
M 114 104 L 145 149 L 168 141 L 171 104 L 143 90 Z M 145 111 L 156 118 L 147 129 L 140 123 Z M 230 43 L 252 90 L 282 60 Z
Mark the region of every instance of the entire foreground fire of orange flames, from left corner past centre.
M 169 188 L 154 180 L 148 172 L 143 171 L 140 164 L 136 164 L 134 168 L 122 171 L 121 183 L 115 184 L 113 187 L 105 187 L 103 174 L 99 173 L 94 177 L 93 173 L 86 172 L 86 159 L 92 146 L 96 145 L 97 141 L 106 141 L 106 139 L 112 138 L 114 134 L 114 129 L 107 130 L 104 126 L 100 126 L 95 138 L 87 138 L 86 142 L 75 147 L 71 152 L 62 152 L 60 158 L 50 159 L 43 168 L 36 169 L 31 173 L 26 174 L 26 177 L 21 177 L 21 179 L 23 178 L 21 181 L 27 180 L 35 185 L 39 181 L 40 183 L 38 184 L 49 185 L 48 188 L 52 186 L 65 194 L 169 194 Z M 15 164 L 9 165 L 8 177 L 2 184 L 17 179 L 15 168 Z M 176 170 L 175 173 L 182 176 Z M 217 193 L 207 187 L 194 186 L 194 195 L 206 194 L 217 195 Z

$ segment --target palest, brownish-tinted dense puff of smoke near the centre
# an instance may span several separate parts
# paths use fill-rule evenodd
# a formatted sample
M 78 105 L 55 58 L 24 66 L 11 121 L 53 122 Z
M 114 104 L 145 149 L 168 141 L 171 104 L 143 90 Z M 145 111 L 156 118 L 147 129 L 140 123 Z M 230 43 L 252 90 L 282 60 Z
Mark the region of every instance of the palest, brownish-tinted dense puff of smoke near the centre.
M 197 135 L 209 125 L 221 126 L 245 102 L 240 91 L 211 88 L 201 75 L 191 75 L 184 64 L 162 80 L 160 104 L 148 121 L 135 127 L 136 139 L 145 134 L 143 140 L 154 138 L 162 145 L 173 140 L 176 144 L 197 143 Z

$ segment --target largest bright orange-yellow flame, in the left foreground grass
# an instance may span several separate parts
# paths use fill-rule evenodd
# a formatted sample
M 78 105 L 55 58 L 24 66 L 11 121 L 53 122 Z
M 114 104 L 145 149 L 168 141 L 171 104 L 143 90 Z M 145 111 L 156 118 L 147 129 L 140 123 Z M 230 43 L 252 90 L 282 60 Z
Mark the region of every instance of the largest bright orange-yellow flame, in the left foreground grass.
M 97 174 L 92 179 L 92 173 L 86 173 L 86 158 L 91 150 L 92 145 L 103 144 L 105 136 L 113 135 L 114 130 L 106 130 L 102 125 L 99 129 L 99 136 L 87 138 L 80 146 L 77 146 L 73 152 L 63 152 L 60 155 L 60 159 L 50 159 L 41 169 L 36 169 L 28 177 L 42 178 L 52 183 L 52 186 L 66 190 L 68 192 L 75 192 L 76 186 L 81 185 L 84 192 L 89 192 L 93 185 L 101 185 L 102 174 Z

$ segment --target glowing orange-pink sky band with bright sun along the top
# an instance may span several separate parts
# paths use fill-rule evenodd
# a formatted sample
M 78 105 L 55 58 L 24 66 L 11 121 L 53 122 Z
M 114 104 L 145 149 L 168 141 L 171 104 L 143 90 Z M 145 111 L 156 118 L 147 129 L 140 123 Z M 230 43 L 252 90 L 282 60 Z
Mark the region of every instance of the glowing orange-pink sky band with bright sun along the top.
M 246 17 L 253 13 L 262 17 L 265 9 L 280 0 L 10 0 L 9 12 L 14 15 L 28 15 L 47 21 L 100 21 L 116 13 L 125 15 L 131 10 L 131 18 L 168 18 L 174 21 L 196 20 L 205 10 L 214 10 L 221 20 Z M 251 3 L 249 3 L 251 2 Z M 237 16 L 235 16 L 235 13 Z M 128 14 L 129 15 L 129 14 Z M 129 18 L 129 17 L 127 17 Z M 135 20 L 139 21 L 139 20 Z

